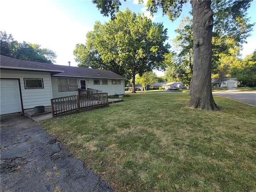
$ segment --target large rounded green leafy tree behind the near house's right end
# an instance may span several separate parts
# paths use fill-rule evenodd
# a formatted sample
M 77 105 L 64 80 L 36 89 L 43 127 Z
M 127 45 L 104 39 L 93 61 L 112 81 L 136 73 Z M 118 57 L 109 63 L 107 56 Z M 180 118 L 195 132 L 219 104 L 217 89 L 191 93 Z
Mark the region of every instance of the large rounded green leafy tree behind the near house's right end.
M 167 29 L 128 9 L 105 24 L 96 22 L 87 37 L 86 45 L 77 45 L 74 51 L 76 61 L 91 59 L 93 67 L 124 70 L 132 76 L 133 93 L 136 74 L 164 68 L 164 54 L 169 52 L 169 45 L 164 44 Z M 81 50 L 83 56 L 79 55 Z

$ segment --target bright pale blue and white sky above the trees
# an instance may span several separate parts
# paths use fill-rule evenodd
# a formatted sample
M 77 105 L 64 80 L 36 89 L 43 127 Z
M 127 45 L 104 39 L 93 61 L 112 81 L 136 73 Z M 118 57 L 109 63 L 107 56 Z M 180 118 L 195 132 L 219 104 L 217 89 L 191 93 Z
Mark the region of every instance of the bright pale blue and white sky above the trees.
M 168 16 L 161 13 L 150 16 L 145 4 L 138 4 L 138 0 L 122 2 L 120 11 L 128 7 L 132 12 L 144 13 L 153 22 L 163 23 L 168 29 L 168 43 L 177 36 L 174 32 L 180 25 L 182 17 L 189 16 L 192 10 L 188 2 L 183 6 L 181 16 L 174 22 Z M 86 34 L 93 30 L 96 21 L 102 24 L 110 20 L 104 17 L 91 0 L 2 0 L 0 2 L 0 31 L 12 34 L 18 42 L 40 44 L 41 48 L 47 48 L 56 52 L 56 63 L 59 65 L 77 66 L 74 60 L 73 50 L 76 44 L 86 43 Z M 248 10 L 251 17 L 250 23 L 256 22 L 256 0 L 253 0 Z M 256 26 L 252 36 L 247 38 L 247 44 L 243 44 L 242 58 L 251 54 L 256 49 Z M 155 71 L 158 76 L 164 72 Z

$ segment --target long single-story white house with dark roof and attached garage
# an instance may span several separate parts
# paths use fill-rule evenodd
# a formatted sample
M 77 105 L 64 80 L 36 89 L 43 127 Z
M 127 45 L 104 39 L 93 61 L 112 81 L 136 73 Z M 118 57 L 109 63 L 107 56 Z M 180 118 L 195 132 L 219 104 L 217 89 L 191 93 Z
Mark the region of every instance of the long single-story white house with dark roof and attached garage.
M 78 94 L 78 88 L 124 94 L 126 78 L 107 70 L 0 57 L 0 114 L 50 106 L 50 99 Z

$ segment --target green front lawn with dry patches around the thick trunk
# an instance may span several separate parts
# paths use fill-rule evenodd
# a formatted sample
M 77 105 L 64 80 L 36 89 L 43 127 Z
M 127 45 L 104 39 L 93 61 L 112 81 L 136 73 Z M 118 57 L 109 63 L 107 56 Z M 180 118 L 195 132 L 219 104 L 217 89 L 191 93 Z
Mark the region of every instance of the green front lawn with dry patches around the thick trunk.
M 189 98 L 131 94 L 40 125 L 116 192 L 255 192 L 255 107 L 214 96 L 220 111 L 193 110 Z

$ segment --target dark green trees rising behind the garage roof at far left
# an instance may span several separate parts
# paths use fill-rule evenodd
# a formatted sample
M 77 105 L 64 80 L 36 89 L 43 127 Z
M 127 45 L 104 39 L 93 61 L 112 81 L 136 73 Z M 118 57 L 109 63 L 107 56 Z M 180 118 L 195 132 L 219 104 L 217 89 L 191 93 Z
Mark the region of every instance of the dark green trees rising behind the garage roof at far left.
M 12 37 L 12 34 L 7 35 L 6 32 L 0 32 L 0 52 L 1 55 L 25 60 L 44 63 L 54 63 L 56 53 L 46 48 L 40 48 L 38 44 L 27 42 L 19 43 Z

